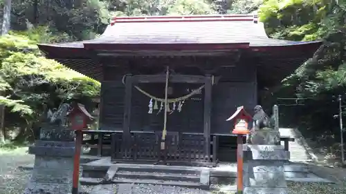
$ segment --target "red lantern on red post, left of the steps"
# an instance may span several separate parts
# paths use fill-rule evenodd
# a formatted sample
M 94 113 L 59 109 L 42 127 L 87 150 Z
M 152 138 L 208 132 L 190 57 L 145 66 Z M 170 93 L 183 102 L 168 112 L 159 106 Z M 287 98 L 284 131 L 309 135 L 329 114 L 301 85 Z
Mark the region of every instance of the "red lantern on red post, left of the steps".
M 80 154 L 82 149 L 82 130 L 87 128 L 93 117 L 88 113 L 82 104 L 75 104 L 73 110 L 69 113 L 71 129 L 75 130 L 75 155 L 73 159 L 73 179 L 72 194 L 78 194 L 78 185 L 80 180 Z

